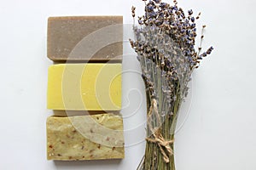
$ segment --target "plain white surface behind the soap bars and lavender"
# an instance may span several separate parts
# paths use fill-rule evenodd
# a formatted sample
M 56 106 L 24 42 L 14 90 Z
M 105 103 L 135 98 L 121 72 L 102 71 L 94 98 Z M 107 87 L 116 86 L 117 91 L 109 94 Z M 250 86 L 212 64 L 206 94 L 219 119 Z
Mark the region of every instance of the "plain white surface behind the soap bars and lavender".
M 0 169 L 136 169 L 144 150 L 143 143 L 136 143 L 144 138 L 145 101 L 129 116 L 140 101 L 138 91 L 131 89 L 143 90 L 139 75 L 132 72 L 124 74 L 124 103 L 131 102 L 123 112 L 129 144 L 124 160 L 46 161 L 45 133 L 46 117 L 52 114 L 45 109 L 47 68 L 52 64 L 46 57 L 47 18 L 121 14 L 131 23 L 132 4 L 143 6 L 139 0 L 0 1 Z M 179 6 L 202 12 L 204 45 L 215 50 L 193 76 L 189 116 L 176 135 L 177 170 L 254 170 L 256 2 L 179 0 Z M 134 58 L 124 59 L 124 68 L 139 71 Z

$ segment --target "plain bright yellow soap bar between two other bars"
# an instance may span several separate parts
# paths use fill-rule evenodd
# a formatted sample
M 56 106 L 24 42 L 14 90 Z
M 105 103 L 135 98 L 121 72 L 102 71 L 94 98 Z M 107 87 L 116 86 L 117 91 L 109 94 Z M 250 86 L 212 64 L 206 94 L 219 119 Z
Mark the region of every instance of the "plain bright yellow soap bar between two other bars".
M 47 108 L 69 111 L 119 111 L 121 64 L 49 66 Z

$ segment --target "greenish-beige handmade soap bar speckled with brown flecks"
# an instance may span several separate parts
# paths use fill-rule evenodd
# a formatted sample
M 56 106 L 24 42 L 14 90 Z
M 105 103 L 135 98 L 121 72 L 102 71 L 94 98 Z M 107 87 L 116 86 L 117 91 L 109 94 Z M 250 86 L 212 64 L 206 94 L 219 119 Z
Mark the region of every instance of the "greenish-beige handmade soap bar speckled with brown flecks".
M 47 119 L 48 160 L 121 159 L 124 156 L 120 116 L 49 116 Z

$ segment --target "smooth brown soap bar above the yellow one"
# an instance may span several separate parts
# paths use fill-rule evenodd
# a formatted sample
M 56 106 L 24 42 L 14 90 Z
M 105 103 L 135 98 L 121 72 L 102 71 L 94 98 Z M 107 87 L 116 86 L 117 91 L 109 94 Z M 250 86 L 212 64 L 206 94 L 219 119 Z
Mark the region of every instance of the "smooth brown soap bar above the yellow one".
M 121 61 L 122 16 L 49 17 L 47 56 L 58 61 Z

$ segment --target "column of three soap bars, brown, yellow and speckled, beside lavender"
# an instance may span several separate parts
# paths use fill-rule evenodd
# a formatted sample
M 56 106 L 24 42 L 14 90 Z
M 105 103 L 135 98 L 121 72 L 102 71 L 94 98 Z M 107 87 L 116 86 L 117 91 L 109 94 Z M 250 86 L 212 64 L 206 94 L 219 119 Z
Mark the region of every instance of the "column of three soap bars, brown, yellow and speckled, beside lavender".
M 47 56 L 59 63 L 48 74 L 49 160 L 124 158 L 122 23 L 121 16 L 49 17 Z

